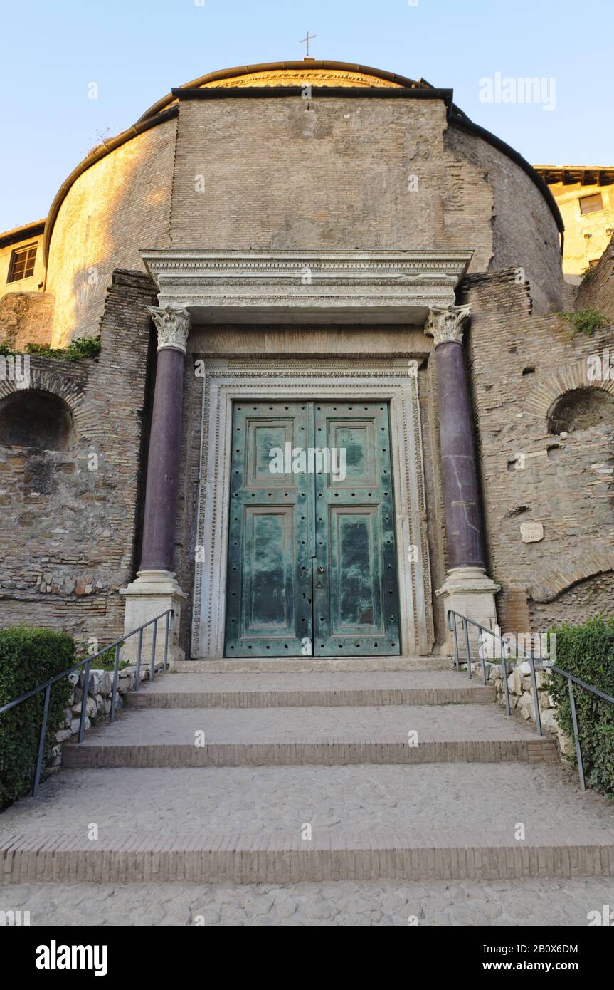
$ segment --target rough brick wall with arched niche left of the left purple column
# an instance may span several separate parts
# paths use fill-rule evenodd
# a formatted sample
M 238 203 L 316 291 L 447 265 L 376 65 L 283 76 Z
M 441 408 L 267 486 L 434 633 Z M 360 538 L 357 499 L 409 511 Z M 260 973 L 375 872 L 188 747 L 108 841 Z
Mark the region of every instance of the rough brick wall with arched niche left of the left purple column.
M 0 623 L 65 630 L 80 644 L 124 631 L 119 588 L 132 579 L 154 286 L 114 272 L 98 359 L 31 358 L 33 389 L 68 407 L 62 449 L 0 447 Z M 0 385 L 0 396 L 15 388 Z M 143 436 L 145 434 L 145 436 Z

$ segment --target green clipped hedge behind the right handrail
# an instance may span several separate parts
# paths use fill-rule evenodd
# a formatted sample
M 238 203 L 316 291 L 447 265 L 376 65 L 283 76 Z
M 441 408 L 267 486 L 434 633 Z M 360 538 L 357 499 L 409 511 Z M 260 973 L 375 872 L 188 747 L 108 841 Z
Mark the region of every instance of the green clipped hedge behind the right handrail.
M 557 666 L 614 697 L 614 618 L 597 616 L 552 632 L 557 634 Z M 557 722 L 573 739 L 567 678 L 552 673 L 550 692 L 559 708 Z M 573 698 L 586 784 L 614 795 L 614 705 L 577 684 Z M 575 764 L 575 752 L 568 759 Z

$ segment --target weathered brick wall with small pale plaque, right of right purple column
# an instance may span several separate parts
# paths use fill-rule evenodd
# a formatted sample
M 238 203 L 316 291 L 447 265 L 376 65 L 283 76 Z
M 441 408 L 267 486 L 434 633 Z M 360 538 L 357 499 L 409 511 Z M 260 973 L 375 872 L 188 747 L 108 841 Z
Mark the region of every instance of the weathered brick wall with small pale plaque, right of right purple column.
M 464 288 L 472 306 L 467 350 L 489 570 L 503 586 L 501 626 L 519 633 L 533 622 L 538 630 L 580 622 L 590 602 L 595 614 L 608 594 L 614 598 L 614 419 L 554 436 L 548 413 L 561 395 L 586 387 L 612 394 L 614 409 L 614 381 L 587 378 L 587 357 L 603 352 L 611 331 L 573 337 L 565 318 L 535 316 L 513 270 L 470 276 Z M 543 524 L 541 542 L 522 542 L 526 522 Z

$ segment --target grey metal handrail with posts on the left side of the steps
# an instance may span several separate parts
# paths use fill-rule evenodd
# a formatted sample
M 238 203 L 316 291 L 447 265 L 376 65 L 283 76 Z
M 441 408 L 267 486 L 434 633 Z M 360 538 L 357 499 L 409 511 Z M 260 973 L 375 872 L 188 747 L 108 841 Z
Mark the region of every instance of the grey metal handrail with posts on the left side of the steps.
M 165 633 L 164 633 L 164 661 L 162 664 L 162 673 L 166 673 L 166 666 L 168 662 L 168 638 L 170 631 L 174 629 L 175 625 L 175 611 L 174 609 L 167 609 L 166 612 L 162 612 L 159 616 L 155 616 L 154 619 L 149 619 L 148 622 L 143 623 L 141 626 L 137 626 L 136 629 L 132 630 L 132 633 L 128 633 L 123 636 L 121 640 L 116 640 L 109 646 L 104 646 L 103 649 L 99 649 L 97 653 L 93 653 L 91 656 L 84 656 L 82 660 L 75 663 L 74 666 L 69 667 L 68 670 L 62 671 L 60 674 L 55 674 L 53 677 L 49 677 L 48 680 L 44 681 L 43 684 L 39 684 L 38 687 L 33 688 L 31 691 L 27 691 L 26 694 L 22 694 L 19 698 L 15 698 L 13 701 L 9 701 L 6 705 L 0 707 L 0 715 L 4 712 L 10 711 L 10 709 L 15 708 L 17 705 L 21 705 L 22 702 L 28 701 L 29 698 L 33 698 L 36 694 L 44 691 L 44 709 L 43 709 L 43 722 L 41 723 L 41 735 L 39 738 L 39 751 L 37 754 L 37 768 L 34 778 L 33 786 L 33 796 L 36 798 L 39 795 L 39 787 L 41 784 L 41 774 L 43 772 L 43 757 L 44 757 L 44 738 L 46 735 L 46 722 L 49 711 L 49 699 L 51 696 L 51 687 L 56 681 L 62 680 L 64 677 L 68 677 L 70 674 L 74 673 L 80 667 L 85 664 L 85 675 L 83 678 L 83 694 L 81 696 L 81 715 L 79 717 L 79 734 L 77 743 L 83 742 L 83 736 L 85 733 L 85 719 L 87 716 L 87 697 L 88 689 L 90 686 L 90 670 L 92 663 L 103 653 L 109 652 L 110 649 L 115 647 L 115 663 L 113 667 L 113 691 L 111 694 L 111 712 L 110 721 L 115 722 L 115 709 L 116 709 L 116 695 L 118 691 L 118 679 L 120 675 L 120 652 L 122 646 L 127 640 L 130 640 L 132 636 L 138 634 L 138 647 L 136 652 L 136 683 L 135 690 L 140 689 L 140 660 L 142 652 L 142 632 L 147 626 L 151 626 L 153 623 L 153 635 L 151 638 L 151 658 L 149 661 L 149 678 L 154 680 L 155 676 L 155 644 L 157 638 L 158 622 L 160 619 L 166 618 L 165 623 Z

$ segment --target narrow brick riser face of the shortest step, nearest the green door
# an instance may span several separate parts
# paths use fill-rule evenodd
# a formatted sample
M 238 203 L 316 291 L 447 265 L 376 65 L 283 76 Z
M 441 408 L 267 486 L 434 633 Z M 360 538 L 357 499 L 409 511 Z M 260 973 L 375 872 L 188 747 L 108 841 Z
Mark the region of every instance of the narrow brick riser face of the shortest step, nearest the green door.
M 131 708 L 341 708 L 372 705 L 476 705 L 495 701 L 494 688 L 397 688 L 355 691 L 134 691 Z

